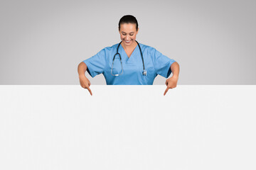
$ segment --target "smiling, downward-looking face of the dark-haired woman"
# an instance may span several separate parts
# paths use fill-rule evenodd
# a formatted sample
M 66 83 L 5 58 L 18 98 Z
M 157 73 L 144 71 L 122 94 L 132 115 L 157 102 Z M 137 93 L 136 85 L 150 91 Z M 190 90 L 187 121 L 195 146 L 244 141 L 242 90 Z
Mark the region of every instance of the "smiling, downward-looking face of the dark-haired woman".
M 135 23 L 122 23 L 120 25 L 119 33 L 120 33 L 120 38 L 122 40 L 123 45 L 130 46 L 130 45 L 134 45 L 134 43 L 137 43 L 135 42 L 135 40 L 136 40 L 136 35 L 138 31 L 139 31 L 139 28 L 138 30 L 136 30 Z

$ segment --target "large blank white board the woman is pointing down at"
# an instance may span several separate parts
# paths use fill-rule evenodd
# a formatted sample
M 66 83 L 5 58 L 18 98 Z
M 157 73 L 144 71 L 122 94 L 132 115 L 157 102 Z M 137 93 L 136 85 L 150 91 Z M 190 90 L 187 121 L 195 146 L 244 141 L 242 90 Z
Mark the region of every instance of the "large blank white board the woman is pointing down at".
M 0 86 L 0 169 L 256 169 L 256 86 Z

